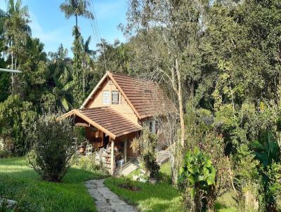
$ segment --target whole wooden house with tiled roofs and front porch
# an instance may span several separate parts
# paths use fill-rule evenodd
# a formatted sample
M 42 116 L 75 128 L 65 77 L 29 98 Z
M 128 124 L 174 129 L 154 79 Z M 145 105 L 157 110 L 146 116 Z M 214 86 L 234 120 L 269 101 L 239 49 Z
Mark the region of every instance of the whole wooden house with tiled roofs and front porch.
M 158 84 L 107 72 L 79 110 L 71 110 L 58 119 L 74 116 L 75 125 L 85 128 L 93 147 L 108 150 L 105 161 L 114 173 L 117 158 L 126 163 L 133 157 L 131 140 L 144 125 L 157 133 L 155 117 L 167 111 L 176 112 L 176 107 Z

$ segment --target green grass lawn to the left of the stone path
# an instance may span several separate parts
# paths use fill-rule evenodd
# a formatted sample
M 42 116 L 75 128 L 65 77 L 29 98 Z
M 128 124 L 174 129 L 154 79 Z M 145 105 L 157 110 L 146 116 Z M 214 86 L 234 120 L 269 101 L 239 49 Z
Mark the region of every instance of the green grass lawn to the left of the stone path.
M 49 183 L 23 158 L 0 159 L 0 196 L 18 201 L 19 211 L 96 211 L 84 182 L 102 177 L 98 172 L 70 168 L 62 183 Z

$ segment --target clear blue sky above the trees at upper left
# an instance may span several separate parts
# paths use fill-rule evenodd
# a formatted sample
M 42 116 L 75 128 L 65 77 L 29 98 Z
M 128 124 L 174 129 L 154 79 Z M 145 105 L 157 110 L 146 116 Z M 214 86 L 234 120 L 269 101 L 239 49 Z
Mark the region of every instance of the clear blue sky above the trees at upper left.
M 60 44 L 67 47 L 69 56 L 72 46 L 72 28 L 74 18 L 65 19 L 60 11 L 60 4 L 64 0 L 22 0 L 22 5 L 27 5 L 30 11 L 30 27 L 32 37 L 38 37 L 45 44 L 45 51 L 56 51 Z M 113 43 L 115 39 L 126 41 L 122 32 L 117 28 L 119 23 L 126 23 L 126 0 L 93 0 L 96 11 L 96 20 L 100 31 L 100 37 Z M 0 0 L 0 8 L 6 10 L 5 0 Z M 78 25 L 84 39 L 91 35 L 91 48 L 96 49 L 96 39 L 89 20 L 78 18 Z

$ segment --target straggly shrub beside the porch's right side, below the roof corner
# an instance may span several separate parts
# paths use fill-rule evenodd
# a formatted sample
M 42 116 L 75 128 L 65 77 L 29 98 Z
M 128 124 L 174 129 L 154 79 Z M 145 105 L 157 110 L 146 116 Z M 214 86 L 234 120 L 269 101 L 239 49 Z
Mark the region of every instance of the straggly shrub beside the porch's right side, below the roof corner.
M 159 165 L 156 156 L 157 135 L 150 133 L 148 128 L 143 128 L 139 138 L 134 138 L 131 143 L 133 152 L 139 153 L 138 161 L 145 175 L 149 178 L 157 178 L 159 174 Z

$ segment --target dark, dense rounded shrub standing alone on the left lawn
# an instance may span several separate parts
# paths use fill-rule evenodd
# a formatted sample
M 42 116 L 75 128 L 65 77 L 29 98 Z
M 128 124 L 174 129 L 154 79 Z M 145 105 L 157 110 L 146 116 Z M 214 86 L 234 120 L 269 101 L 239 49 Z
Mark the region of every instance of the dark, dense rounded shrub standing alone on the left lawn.
M 34 123 L 29 135 L 32 152 L 28 161 L 41 178 L 60 182 L 70 166 L 70 159 L 81 143 L 70 120 L 57 121 L 42 116 Z

